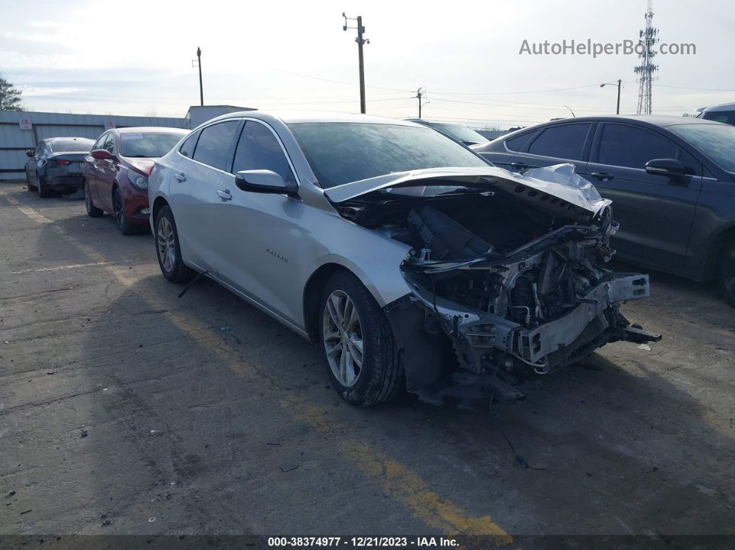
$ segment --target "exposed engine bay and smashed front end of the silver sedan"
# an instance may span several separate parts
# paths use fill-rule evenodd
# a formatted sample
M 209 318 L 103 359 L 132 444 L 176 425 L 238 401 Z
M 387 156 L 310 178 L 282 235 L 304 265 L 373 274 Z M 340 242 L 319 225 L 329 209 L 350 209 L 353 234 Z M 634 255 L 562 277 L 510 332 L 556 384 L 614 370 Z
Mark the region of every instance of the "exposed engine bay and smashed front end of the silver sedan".
M 441 178 L 337 205 L 343 217 L 411 247 L 401 269 L 414 292 L 386 308 L 404 363 L 433 373 L 407 364 L 409 389 L 445 372 L 427 367 L 418 349 L 437 355 L 437 341 L 451 347 L 460 371 L 481 375 L 546 374 L 608 342 L 661 338 L 620 313 L 621 301 L 650 294 L 648 275 L 606 269 L 617 225 L 609 201 L 596 198 L 592 208 L 503 178 Z M 420 311 L 412 322 L 428 339 L 406 329 L 407 308 Z

